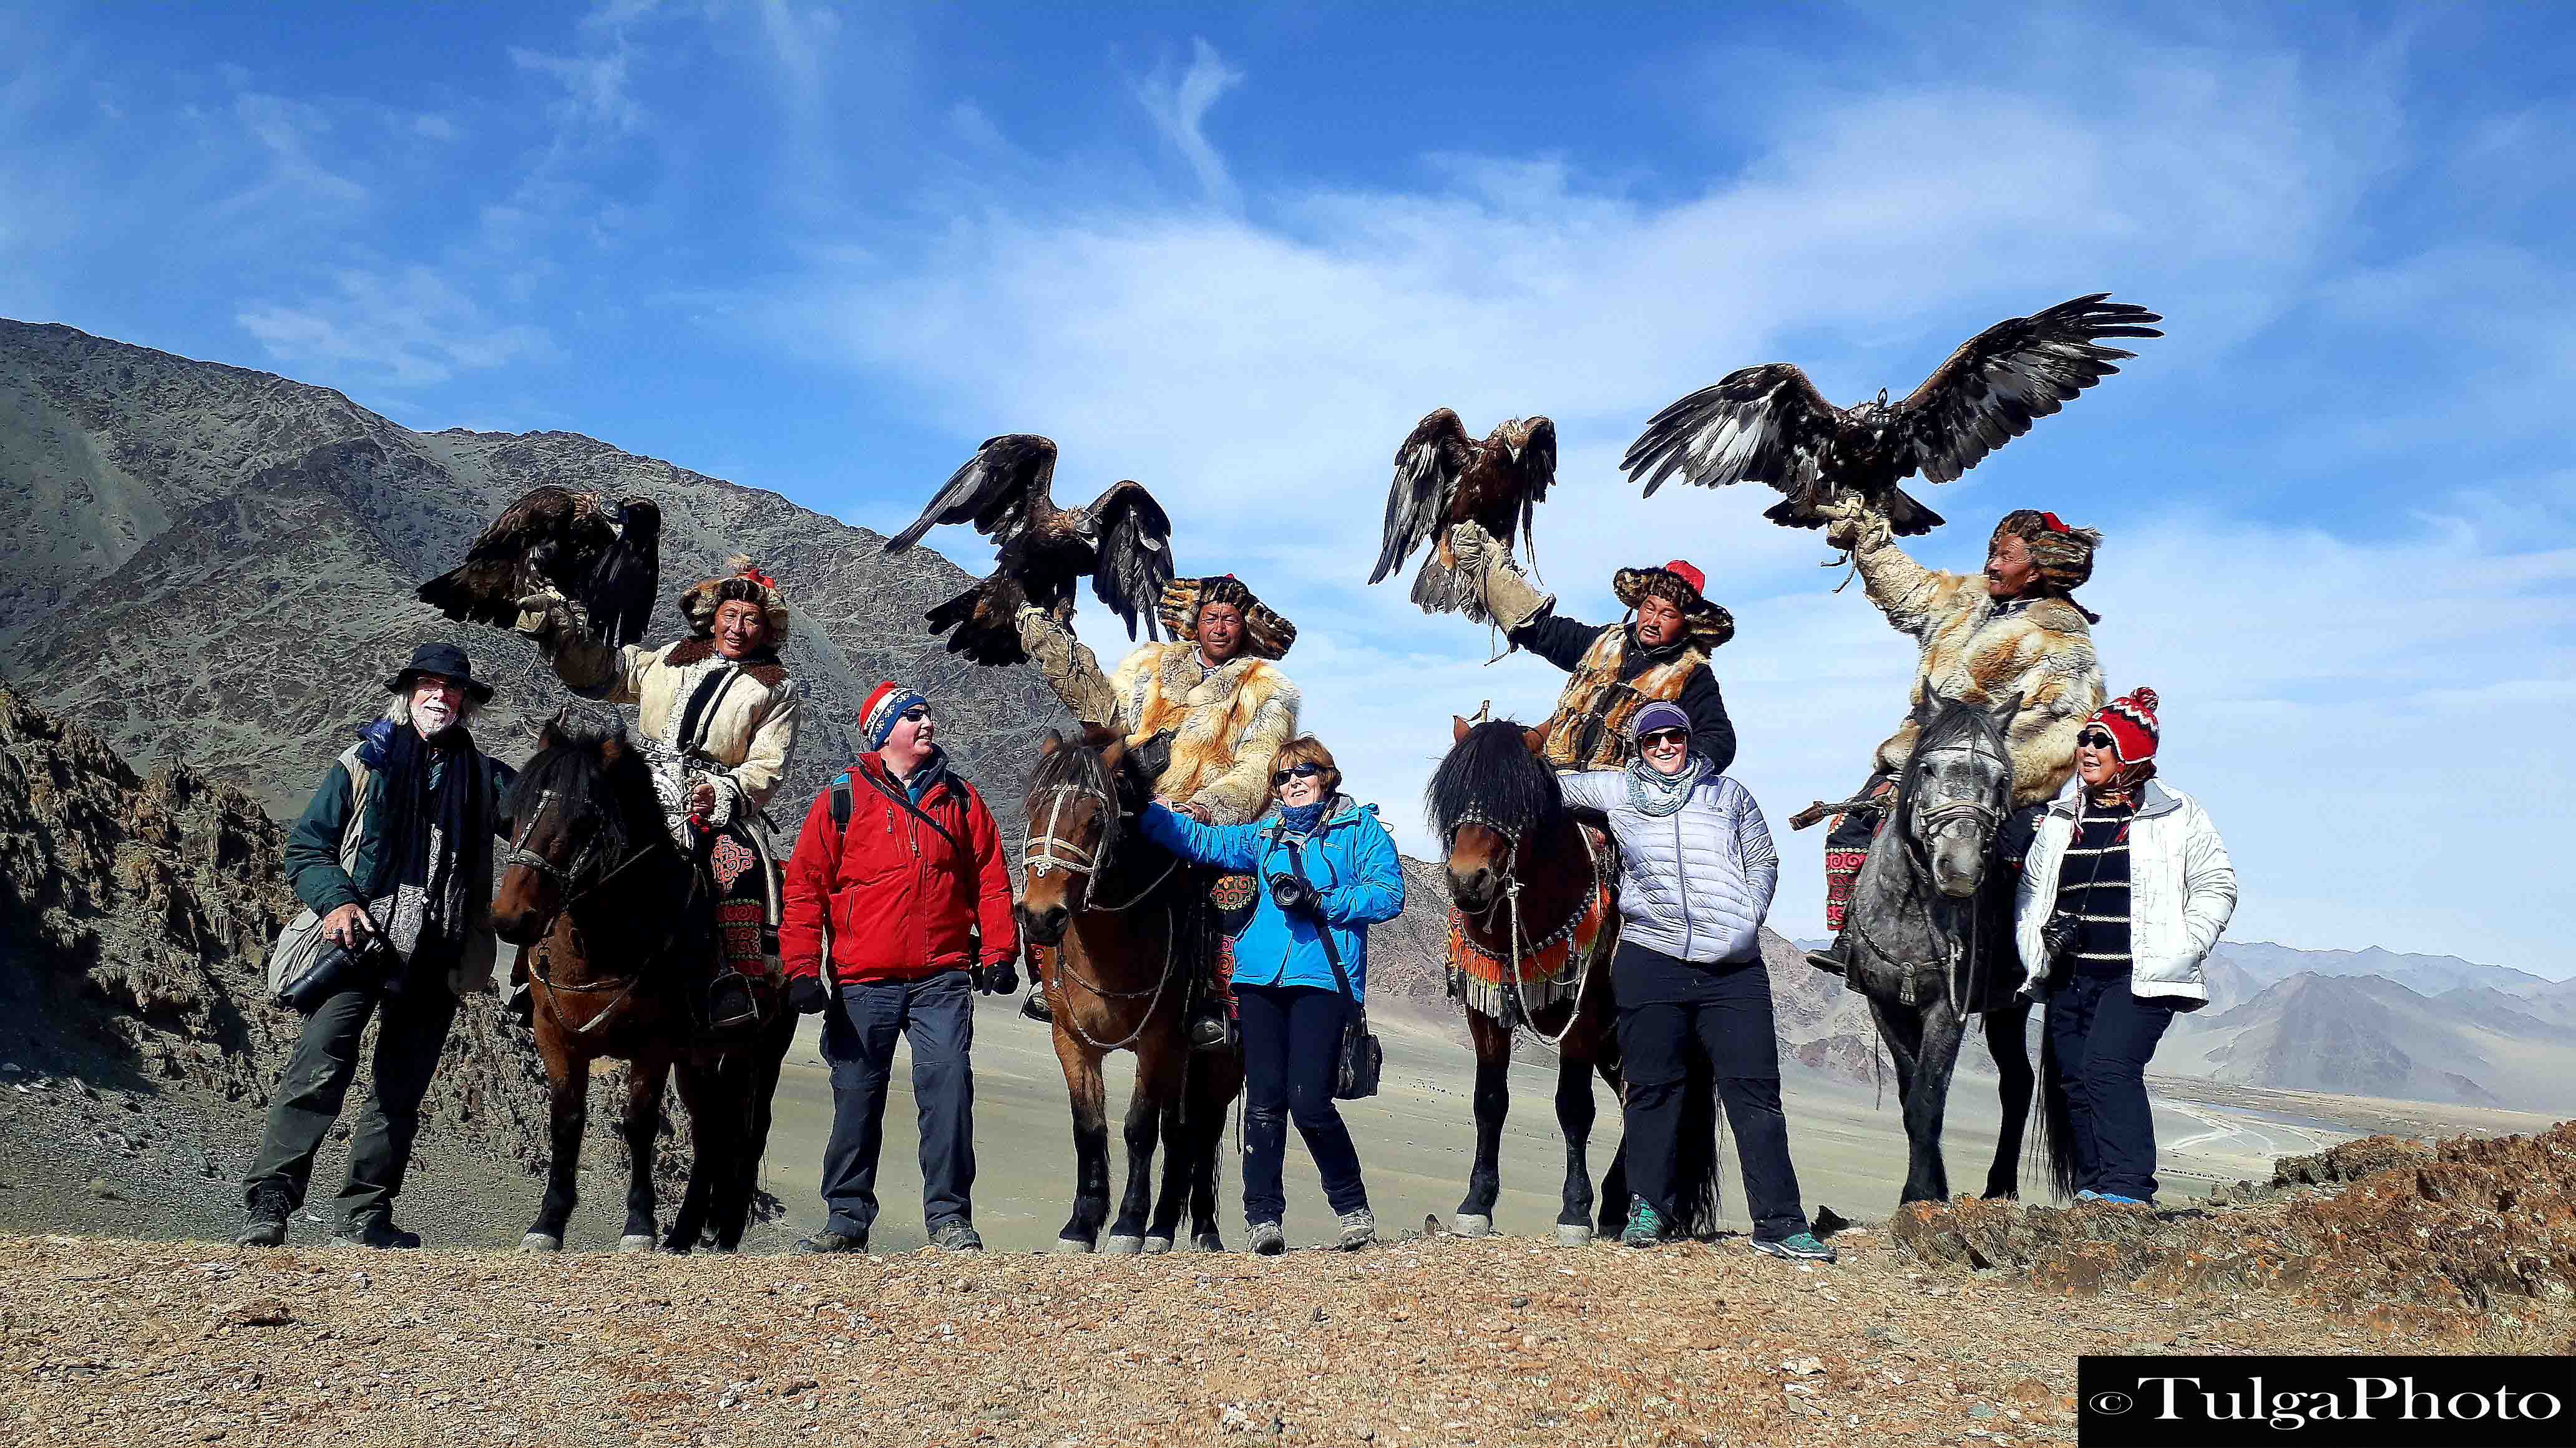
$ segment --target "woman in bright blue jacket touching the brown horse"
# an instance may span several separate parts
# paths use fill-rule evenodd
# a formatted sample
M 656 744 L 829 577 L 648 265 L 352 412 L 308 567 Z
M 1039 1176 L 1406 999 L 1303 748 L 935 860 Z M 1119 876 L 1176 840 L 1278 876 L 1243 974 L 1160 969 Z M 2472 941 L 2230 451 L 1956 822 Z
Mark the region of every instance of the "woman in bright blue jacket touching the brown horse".
M 1234 938 L 1234 1007 L 1244 1031 L 1244 1219 L 1265 1257 L 1288 1250 L 1280 1159 L 1291 1118 L 1340 1216 L 1342 1250 L 1378 1239 L 1332 1085 L 1342 1025 L 1368 1000 L 1368 928 L 1404 910 L 1404 871 L 1378 809 L 1345 799 L 1340 783 L 1332 752 L 1306 734 L 1278 752 L 1278 806 L 1252 824 L 1198 824 L 1162 804 L 1144 812 L 1157 845 L 1262 881 L 1252 922 Z

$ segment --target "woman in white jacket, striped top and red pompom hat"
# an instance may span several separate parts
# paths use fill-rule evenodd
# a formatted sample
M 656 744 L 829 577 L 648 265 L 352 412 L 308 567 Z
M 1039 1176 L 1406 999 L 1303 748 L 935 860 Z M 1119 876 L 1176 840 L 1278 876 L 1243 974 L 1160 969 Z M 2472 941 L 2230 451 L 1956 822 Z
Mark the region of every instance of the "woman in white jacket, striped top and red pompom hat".
M 2236 912 L 2236 866 L 2192 796 L 2154 783 L 2156 691 L 2076 734 L 2076 783 L 2040 817 L 2014 912 L 2030 995 L 2048 1000 L 2045 1072 L 2074 1123 L 2076 1198 L 2146 1206 L 2156 1126 L 2146 1062 L 2210 987 L 2200 961 Z

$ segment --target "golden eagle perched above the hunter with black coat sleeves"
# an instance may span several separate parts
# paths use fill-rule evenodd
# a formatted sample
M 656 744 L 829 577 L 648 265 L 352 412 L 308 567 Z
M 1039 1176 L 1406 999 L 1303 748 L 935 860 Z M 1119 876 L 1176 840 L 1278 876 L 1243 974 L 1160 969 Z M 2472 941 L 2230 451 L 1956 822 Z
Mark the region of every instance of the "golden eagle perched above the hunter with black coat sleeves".
M 1425 613 L 1484 618 L 1484 600 L 1455 575 L 1458 557 L 1450 554 L 1448 531 L 1476 523 L 1510 551 L 1515 538 L 1530 536 L 1533 510 L 1553 482 L 1556 423 L 1512 417 L 1479 443 L 1466 435 L 1455 412 L 1432 412 L 1396 448 L 1396 482 L 1386 490 L 1386 544 L 1368 582 L 1396 572 L 1430 541 L 1432 551 L 1414 575 L 1414 603 Z

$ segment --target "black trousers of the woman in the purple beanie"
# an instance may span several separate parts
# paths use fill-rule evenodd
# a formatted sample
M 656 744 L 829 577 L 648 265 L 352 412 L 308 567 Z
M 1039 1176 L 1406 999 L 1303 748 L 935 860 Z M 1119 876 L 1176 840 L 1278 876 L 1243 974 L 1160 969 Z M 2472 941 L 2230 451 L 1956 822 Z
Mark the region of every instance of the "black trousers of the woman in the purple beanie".
M 1631 961 L 1631 951 L 1641 958 Z M 1646 958 L 1651 956 L 1651 961 Z M 1625 971 L 1620 966 L 1628 966 Z M 1638 969 L 1646 966 L 1646 969 Z M 1754 1237 L 1780 1242 L 1808 1229 L 1798 1206 L 1798 1167 L 1788 1159 L 1788 1113 L 1780 1110 L 1780 1036 L 1772 1023 L 1770 974 L 1762 961 L 1687 966 L 1643 946 L 1620 946 L 1613 984 L 1674 979 L 1682 966 L 1692 989 L 1654 992 L 1667 1000 L 1628 1005 L 1620 992 L 1618 1046 L 1625 1077 L 1628 1190 L 1677 1219 L 1674 1159 L 1682 1134 L 1682 1092 L 1692 1051 L 1708 1062 L 1726 1123 L 1736 1131 L 1736 1167 L 1754 1219 Z M 1682 1000 L 1672 1000 L 1680 995 Z

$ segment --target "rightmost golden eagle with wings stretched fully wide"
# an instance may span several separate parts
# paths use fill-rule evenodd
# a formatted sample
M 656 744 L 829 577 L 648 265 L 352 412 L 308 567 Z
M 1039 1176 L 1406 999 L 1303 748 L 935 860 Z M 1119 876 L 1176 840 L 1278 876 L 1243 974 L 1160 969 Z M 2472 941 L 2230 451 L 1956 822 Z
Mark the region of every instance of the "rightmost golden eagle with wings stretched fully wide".
M 1646 482 L 1646 495 L 1674 472 L 1682 482 L 1721 487 L 1767 482 L 1788 495 L 1765 518 L 1785 528 L 1821 528 L 1844 495 L 1873 500 L 1899 536 L 1940 526 L 1896 484 L 1917 472 L 1950 482 L 2030 430 L 2087 386 L 2133 358 L 2102 338 L 2161 338 L 2164 317 L 2110 291 L 2058 301 L 2032 317 L 1996 322 L 1968 338 L 1904 402 L 1834 407 L 1790 363 L 1726 374 L 1716 386 L 1664 407 L 1628 446 L 1620 469 Z

